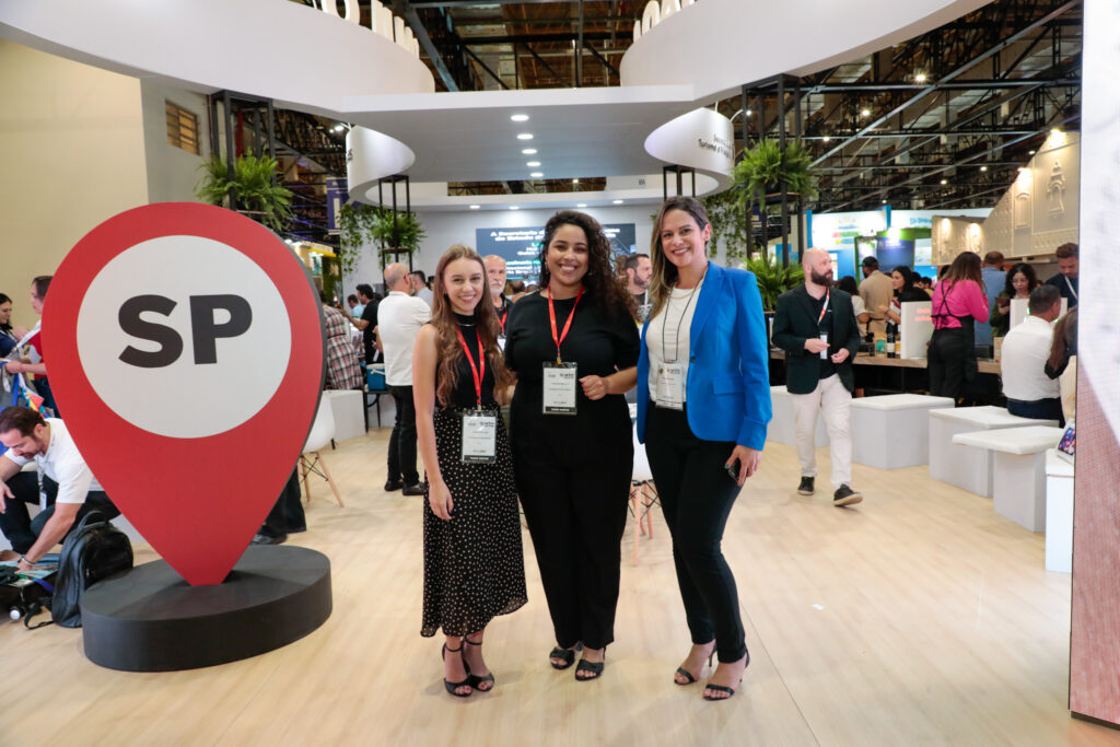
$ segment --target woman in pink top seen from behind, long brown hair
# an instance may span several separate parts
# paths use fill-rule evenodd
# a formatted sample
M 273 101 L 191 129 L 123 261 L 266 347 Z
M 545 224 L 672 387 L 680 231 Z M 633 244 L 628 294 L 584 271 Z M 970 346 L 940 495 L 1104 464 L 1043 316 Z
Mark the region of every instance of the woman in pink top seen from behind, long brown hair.
M 988 320 L 988 296 L 980 274 L 980 255 L 963 252 L 933 290 L 930 394 L 960 400 L 964 383 L 976 379 L 973 320 Z

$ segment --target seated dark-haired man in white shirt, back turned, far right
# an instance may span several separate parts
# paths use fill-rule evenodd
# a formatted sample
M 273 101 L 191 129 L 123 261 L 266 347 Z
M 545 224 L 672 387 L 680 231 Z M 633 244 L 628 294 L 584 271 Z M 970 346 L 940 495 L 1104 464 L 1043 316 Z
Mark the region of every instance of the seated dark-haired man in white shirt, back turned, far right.
M 1052 323 L 1062 314 L 1062 295 L 1054 286 L 1039 286 L 1030 291 L 1027 309 L 1030 316 L 1007 333 L 1000 353 L 1007 411 L 1065 426 L 1058 382 L 1045 371 L 1054 338 Z

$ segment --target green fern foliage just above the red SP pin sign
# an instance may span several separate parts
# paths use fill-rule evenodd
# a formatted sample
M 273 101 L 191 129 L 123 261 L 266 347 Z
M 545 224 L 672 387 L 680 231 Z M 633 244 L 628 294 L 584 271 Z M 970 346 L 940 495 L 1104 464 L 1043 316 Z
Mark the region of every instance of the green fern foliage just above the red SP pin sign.
M 203 177 L 195 195 L 211 205 L 236 207 L 272 231 L 283 233 L 292 218 L 292 193 L 273 181 L 278 167 L 274 158 L 240 156 L 231 179 L 228 162 L 214 157 L 199 167 Z

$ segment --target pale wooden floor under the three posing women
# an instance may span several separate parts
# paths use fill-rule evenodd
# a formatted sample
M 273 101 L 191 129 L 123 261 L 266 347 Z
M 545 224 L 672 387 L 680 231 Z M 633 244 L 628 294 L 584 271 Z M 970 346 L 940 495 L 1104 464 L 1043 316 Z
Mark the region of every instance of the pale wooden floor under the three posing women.
M 334 614 L 280 651 L 162 674 L 104 670 L 80 631 L 0 625 L 0 745 L 1117 745 L 1066 710 L 1070 577 L 1043 535 L 925 467 L 855 467 L 866 501 L 799 496 L 792 447 L 767 448 L 731 514 L 752 663 L 731 701 L 674 687 L 689 638 L 660 513 L 631 562 L 601 680 L 556 672 L 525 534 L 530 603 L 487 633 L 493 693 L 454 699 L 421 638 L 421 498 L 385 494 L 388 430 L 327 459 L 292 541 L 333 563 Z M 827 450 L 821 450 L 821 471 Z M 820 480 L 819 480 L 820 482 Z M 140 548 L 138 562 L 155 555 Z

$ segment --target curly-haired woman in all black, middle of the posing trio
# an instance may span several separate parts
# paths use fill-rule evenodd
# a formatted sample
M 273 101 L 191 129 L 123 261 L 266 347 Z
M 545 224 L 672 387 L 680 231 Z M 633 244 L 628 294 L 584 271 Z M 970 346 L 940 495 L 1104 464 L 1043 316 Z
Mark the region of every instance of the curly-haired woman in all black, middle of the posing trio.
M 590 216 L 561 212 L 549 221 L 540 284 L 540 293 L 513 305 L 506 323 L 506 365 L 517 374 L 514 476 L 556 631 L 549 659 L 567 669 L 582 644 L 576 679 L 592 680 L 614 641 L 634 460 L 623 395 L 636 381 L 640 342 L 633 301 Z M 566 381 L 575 413 L 544 412 L 545 404 L 566 409 L 563 398 L 544 396 L 544 377 L 560 373 L 558 360 L 576 365 L 575 381 Z

